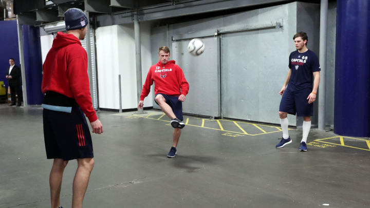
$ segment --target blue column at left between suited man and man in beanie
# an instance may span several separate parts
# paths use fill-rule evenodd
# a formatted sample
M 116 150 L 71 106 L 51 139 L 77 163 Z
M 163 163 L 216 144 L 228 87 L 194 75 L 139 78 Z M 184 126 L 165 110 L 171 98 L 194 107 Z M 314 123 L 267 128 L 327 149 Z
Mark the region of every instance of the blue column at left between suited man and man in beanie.
M 42 56 L 39 28 L 23 25 L 23 51 L 28 105 L 41 105 Z M 24 74 L 22 74 L 23 76 Z

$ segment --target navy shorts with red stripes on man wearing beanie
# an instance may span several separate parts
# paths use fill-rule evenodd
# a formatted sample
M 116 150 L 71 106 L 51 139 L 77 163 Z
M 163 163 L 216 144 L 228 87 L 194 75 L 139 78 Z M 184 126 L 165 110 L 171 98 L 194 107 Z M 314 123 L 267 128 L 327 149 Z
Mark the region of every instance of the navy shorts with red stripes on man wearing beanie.
M 44 139 L 47 159 L 94 158 L 93 142 L 80 107 L 61 112 L 44 109 Z

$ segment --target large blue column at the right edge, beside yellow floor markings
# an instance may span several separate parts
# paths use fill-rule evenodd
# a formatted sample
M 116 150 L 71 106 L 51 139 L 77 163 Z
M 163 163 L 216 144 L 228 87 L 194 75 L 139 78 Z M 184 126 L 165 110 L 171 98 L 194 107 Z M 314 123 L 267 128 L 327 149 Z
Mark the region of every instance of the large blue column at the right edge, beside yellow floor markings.
M 337 1 L 334 133 L 370 137 L 370 1 Z

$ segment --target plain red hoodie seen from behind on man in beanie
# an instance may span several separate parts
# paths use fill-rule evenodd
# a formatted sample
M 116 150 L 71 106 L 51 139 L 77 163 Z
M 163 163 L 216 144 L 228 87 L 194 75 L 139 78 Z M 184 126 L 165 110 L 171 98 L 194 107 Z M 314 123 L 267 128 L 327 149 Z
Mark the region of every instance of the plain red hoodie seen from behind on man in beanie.
M 76 100 L 90 122 L 93 108 L 87 74 L 87 53 L 73 34 L 58 32 L 43 65 L 42 92 L 54 91 Z

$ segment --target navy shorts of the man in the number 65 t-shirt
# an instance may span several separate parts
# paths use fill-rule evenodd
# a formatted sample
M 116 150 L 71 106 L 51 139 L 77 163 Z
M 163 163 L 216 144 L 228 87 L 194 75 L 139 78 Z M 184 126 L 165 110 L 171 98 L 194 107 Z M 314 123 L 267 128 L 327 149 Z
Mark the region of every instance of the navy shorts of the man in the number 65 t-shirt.
M 280 101 L 279 111 L 297 116 L 313 116 L 313 103 L 308 104 L 307 97 L 311 88 L 295 90 L 287 87 Z

